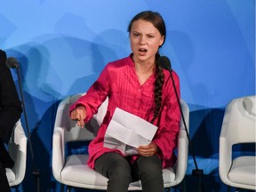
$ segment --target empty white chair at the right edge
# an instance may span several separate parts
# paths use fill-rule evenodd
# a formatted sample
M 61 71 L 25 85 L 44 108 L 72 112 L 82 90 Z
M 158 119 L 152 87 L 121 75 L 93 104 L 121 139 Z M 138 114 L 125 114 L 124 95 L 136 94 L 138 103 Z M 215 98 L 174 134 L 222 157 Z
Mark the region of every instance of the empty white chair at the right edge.
M 219 172 L 228 189 L 256 190 L 255 156 L 234 156 L 233 145 L 256 143 L 256 96 L 231 100 L 226 108 L 220 132 Z M 236 155 L 237 156 L 237 155 Z

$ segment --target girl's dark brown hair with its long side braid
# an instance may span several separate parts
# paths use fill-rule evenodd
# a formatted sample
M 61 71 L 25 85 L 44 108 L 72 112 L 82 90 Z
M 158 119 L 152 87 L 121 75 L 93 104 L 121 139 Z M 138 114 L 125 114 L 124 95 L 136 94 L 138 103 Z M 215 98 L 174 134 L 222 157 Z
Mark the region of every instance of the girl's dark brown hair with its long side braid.
M 136 20 L 147 20 L 151 22 L 154 25 L 154 27 L 157 28 L 160 34 L 164 36 L 164 41 L 165 41 L 165 37 L 166 37 L 165 23 L 162 16 L 158 12 L 145 11 L 135 15 L 128 26 L 129 33 L 131 33 L 132 23 Z M 159 48 L 163 44 L 161 44 Z M 161 68 L 161 66 L 158 63 L 159 57 L 160 57 L 159 52 L 156 52 L 156 81 L 155 81 L 155 91 L 154 91 L 156 108 L 154 111 L 154 117 L 150 121 L 151 124 L 153 124 L 153 122 L 156 120 L 156 117 L 159 115 L 161 104 L 162 104 L 162 89 L 164 84 L 164 74 L 163 74 L 163 68 Z

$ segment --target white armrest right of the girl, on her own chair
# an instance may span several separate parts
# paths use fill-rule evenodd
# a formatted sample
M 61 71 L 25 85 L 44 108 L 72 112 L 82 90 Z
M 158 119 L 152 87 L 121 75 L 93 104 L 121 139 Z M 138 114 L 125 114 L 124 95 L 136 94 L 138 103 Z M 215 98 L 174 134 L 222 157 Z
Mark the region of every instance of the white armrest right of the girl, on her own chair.
M 178 185 L 187 172 L 188 166 L 188 138 L 187 133 L 184 129 L 180 130 L 178 138 L 178 155 L 177 155 L 177 164 L 175 169 L 175 185 Z

